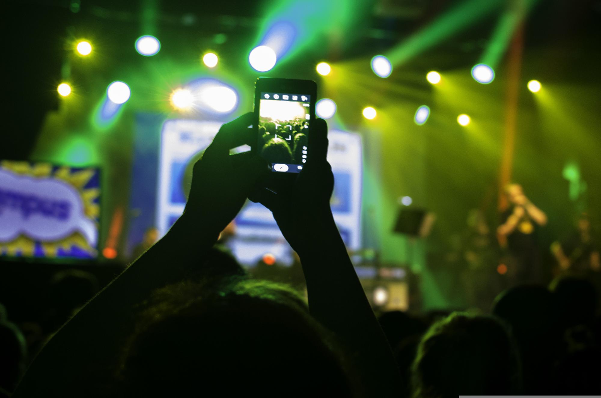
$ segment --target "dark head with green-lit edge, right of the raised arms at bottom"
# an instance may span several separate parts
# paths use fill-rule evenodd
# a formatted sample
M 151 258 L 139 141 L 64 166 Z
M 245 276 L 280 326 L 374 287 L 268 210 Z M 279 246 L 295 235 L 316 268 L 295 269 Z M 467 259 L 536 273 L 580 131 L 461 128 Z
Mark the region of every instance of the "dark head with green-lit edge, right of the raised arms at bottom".
M 412 370 L 413 397 L 506 395 L 519 385 L 511 338 L 489 316 L 454 313 L 433 324 Z

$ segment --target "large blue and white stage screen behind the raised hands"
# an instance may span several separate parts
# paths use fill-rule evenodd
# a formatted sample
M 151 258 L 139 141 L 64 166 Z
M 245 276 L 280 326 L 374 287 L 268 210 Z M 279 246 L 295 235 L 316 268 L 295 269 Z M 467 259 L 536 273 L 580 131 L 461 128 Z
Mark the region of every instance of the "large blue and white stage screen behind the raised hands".
M 135 217 L 129 223 L 128 253 L 142 240 L 147 228 L 157 227 L 160 235 L 165 234 L 182 215 L 192 164 L 222 124 L 211 120 L 167 120 L 157 126 L 158 120 L 153 115 L 138 115 L 137 121 L 130 201 Z M 335 177 L 332 211 L 346 245 L 358 249 L 361 247 L 361 138 L 340 130 L 331 130 L 328 138 L 328 161 Z M 290 246 L 269 210 L 261 204 L 247 201 L 234 222 L 236 233 L 227 244 L 241 263 L 254 265 L 266 253 L 272 253 L 278 262 L 291 263 Z

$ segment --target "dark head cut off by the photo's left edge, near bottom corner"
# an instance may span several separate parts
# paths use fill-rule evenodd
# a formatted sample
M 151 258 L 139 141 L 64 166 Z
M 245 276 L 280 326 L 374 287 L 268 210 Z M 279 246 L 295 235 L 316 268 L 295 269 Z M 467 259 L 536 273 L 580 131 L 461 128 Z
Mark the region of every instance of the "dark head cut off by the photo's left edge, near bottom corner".
M 0 387 L 13 391 L 25 372 L 25 337 L 14 323 L 0 321 Z

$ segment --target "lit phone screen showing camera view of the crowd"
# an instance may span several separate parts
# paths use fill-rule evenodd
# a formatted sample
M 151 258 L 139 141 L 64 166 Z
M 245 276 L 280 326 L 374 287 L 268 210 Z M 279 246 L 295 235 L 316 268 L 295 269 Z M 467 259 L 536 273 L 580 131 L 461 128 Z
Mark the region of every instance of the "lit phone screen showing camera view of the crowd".
M 279 173 L 300 173 L 307 162 L 311 97 L 306 94 L 261 93 L 259 153 Z

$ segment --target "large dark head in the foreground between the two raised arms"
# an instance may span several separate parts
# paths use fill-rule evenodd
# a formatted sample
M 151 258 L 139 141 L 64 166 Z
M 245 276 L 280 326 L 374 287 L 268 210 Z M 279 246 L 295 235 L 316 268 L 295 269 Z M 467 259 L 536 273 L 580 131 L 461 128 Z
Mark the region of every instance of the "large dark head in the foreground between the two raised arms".
M 341 356 L 296 292 L 231 277 L 154 292 L 124 355 L 139 396 L 350 396 Z

